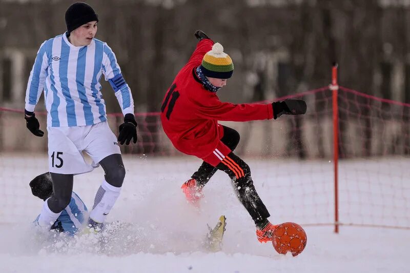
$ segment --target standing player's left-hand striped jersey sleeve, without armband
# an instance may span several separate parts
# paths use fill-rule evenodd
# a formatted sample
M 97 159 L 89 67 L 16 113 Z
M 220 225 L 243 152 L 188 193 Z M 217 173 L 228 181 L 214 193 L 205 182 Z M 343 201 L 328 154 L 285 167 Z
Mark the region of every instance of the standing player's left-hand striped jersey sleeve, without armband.
M 48 68 L 48 57 L 45 46 L 46 42 L 40 46 L 40 49 L 37 52 L 27 84 L 25 109 L 30 112 L 34 112 L 34 108 L 44 89 L 44 82 Z

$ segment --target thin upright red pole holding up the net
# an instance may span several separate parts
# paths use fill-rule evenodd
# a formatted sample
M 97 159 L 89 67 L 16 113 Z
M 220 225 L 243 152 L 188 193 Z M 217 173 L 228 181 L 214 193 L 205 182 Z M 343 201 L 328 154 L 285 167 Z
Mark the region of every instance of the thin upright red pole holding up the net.
M 332 90 L 333 101 L 333 163 L 335 175 L 335 233 L 339 233 L 339 190 L 338 190 L 338 163 L 339 163 L 339 109 L 337 104 L 337 93 L 339 86 L 337 84 L 337 63 L 332 67 L 332 84 L 329 86 Z

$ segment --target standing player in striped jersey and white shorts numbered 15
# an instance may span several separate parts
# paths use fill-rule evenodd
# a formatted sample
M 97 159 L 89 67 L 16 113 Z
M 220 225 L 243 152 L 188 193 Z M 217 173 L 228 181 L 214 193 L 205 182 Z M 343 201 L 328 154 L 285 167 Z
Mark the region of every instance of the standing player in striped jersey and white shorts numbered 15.
M 27 128 L 43 136 L 34 108 L 43 92 L 47 108 L 49 170 L 53 193 L 43 206 L 38 225 L 45 230 L 71 202 L 73 175 L 101 165 L 105 179 L 99 187 L 90 223 L 101 226 L 117 200 L 125 168 L 118 146 L 137 141 L 134 103 L 115 54 L 94 38 L 98 16 L 85 3 L 74 3 L 65 15 L 67 32 L 45 41 L 38 50 L 26 91 Z M 100 79 L 105 77 L 115 91 L 124 114 L 118 139 L 107 123 Z M 117 142 L 118 141 L 118 142 Z M 90 155 L 87 164 L 82 152 Z

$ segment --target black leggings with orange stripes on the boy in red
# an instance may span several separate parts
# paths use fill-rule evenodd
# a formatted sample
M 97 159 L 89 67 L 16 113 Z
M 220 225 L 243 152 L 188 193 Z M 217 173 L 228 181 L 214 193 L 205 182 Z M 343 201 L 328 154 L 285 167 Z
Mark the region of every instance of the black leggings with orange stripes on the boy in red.
M 222 143 L 234 150 L 239 143 L 239 133 L 229 127 L 223 126 Z M 263 222 L 270 217 L 268 209 L 260 199 L 253 185 L 251 169 L 248 164 L 236 154 L 230 152 L 216 167 L 203 162 L 199 169 L 192 175 L 198 185 L 204 186 L 217 170 L 226 172 L 232 180 L 237 197 L 245 209 L 248 210 L 255 224 Z

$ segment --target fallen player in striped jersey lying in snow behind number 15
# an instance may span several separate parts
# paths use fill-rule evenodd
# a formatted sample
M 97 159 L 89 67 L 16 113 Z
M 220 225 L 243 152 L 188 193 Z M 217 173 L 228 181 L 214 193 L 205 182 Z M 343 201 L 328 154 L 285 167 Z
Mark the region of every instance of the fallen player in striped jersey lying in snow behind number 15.
M 33 196 L 44 201 L 50 198 L 53 193 L 53 183 L 51 181 L 50 172 L 37 175 L 37 177 L 30 181 L 30 188 Z M 38 224 L 39 217 L 40 216 L 37 216 L 34 223 Z M 85 225 L 85 223 L 87 223 L 87 220 L 87 206 L 73 191 L 70 203 L 63 209 L 63 211 L 61 211 L 50 229 L 55 229 L 58 232 L 67 232 L 69 236 L 73 236 Z

